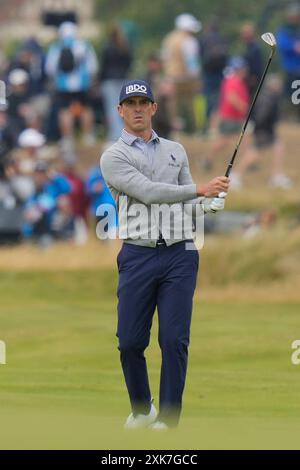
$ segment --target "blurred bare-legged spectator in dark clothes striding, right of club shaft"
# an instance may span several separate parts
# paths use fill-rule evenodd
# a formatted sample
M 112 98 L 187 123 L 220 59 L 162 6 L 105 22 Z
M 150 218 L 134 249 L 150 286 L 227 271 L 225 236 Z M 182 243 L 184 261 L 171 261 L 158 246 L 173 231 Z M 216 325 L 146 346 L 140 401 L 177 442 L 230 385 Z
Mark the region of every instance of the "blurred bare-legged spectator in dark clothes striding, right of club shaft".
M 282 189 L 292 186 L 291 180 L 284 173 L 284 147 L 276 132 L 281 94 L 282 80 L 276 75 L 270 75 L 253 110 L 254 144 L 242 155 L 235 172 L 231 173 L 232 188 L 241 187 L 244 174 L 257 163 L 261 152 L 266 149 L 272 154 L 271 186 Z

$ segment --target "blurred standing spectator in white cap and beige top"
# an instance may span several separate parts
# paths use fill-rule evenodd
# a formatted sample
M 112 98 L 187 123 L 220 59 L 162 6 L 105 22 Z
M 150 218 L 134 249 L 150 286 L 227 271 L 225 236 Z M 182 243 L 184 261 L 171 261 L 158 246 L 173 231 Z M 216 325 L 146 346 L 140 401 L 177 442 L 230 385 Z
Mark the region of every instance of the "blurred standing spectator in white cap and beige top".
M 196 35 L 201 23 L 191 14 L 175 19 L 175 30 L 162 44 L 162 59 L 166 78 L 173 85 L 170 102 L 173 127 L 186 132 L 196 130 L 194 98 L 200 90 L 200 52 Z

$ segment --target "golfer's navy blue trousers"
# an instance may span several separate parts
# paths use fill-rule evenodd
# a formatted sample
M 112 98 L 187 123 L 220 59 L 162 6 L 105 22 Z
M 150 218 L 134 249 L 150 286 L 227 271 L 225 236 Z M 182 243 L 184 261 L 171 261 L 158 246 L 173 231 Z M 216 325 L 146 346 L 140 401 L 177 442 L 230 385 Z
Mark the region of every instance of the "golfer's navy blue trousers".
M 159 418 L 176 425 L 182 406 L 198 251 L 186 243 L 156 248 L 123 244 L 118 255 L 118 329 L 123 373 L 134 414 L 147 414 L 151 392 L 144 351 L 158 311 L 162 353 Z

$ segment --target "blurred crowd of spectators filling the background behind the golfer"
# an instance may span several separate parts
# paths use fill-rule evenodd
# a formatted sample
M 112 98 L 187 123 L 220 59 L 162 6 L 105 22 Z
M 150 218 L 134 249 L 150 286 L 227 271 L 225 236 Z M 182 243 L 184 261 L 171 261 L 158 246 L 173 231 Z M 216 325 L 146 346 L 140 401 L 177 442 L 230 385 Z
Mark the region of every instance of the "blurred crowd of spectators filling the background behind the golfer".
M 282 107 L 300 118 L 299 105 L 291 105 L 300 80 L 299 4 L 289 5 L 276 38 L 281 71 L 268 75 L 259 96 L 231 175 L 233 189 L 242 187 L 244 174 L 265 149 L 273 158 L 270 184 L 293 185 L 285 174 L 277 126 Z M 180 14 L 138 77 L 153 88 L 158 102 L 153 126 L 160 136 L 184 132 L 210 138 L 210 152 L 199 156 L 203 171 L 211 170 L 224 146 L 233 148 L 266 64 L 266 47 L 254 24 L 241 26 L 239 42 L 240 54 L 232 56 L 217 18 L 202 25 L 193 15 Z M 99 204 L 114 204 L 98 161 L 79 174 L 77 141 L 97 147 L 100 126 L 104 146 L 120 137 L 118 96 L 135 61 L 124 24 L 115 24 L 96 51 L 69 21 L 58 27 L 47 49 L 29 37 L 12 57 L 0 55 L 0 79 L 6 84 L 6 100 L 0 99 L 0 243 L 84 243 Z

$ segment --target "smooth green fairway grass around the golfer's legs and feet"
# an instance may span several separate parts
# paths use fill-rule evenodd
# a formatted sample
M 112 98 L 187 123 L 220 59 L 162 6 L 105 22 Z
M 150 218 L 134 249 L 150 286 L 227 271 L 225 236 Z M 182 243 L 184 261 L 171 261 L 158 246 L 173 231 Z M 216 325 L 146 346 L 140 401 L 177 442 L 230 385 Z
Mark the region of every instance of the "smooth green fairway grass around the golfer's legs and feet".
M 0 274 L 1 449 L 300 448 L 300 301 L 197 301 L 181 425 L 125 433 L 115 288 L 113 270 Z

